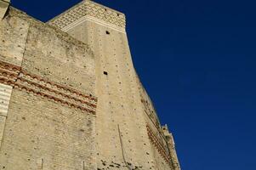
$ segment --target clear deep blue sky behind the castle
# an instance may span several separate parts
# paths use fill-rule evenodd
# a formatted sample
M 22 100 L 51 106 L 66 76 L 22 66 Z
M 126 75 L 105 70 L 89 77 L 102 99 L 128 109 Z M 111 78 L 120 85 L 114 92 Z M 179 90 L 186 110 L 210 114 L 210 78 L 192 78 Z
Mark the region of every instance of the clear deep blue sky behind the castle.
M 79 0 L 12 0 L 49 20 Z M 134 65 L 183 170 L 256 169 L 256 10 L 237 0 L 97 0 L 127 15 Z

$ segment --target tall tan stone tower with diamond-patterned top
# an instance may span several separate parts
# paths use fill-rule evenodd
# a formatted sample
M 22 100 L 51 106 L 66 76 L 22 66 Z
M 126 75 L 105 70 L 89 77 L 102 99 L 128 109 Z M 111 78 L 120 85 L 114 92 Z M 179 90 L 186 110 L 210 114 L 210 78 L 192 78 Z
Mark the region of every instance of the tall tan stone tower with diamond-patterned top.
M 76 21 L 71 20 L 74 16 Z M 159 135 L 163 148 L 158 150 L 168 159 L 165 137 L 158 132 L 161 128 L 156 113 L 134 70 L 125 15 L 92 1 L 82 1 L 48 23 L 87 43 L 94 51 L 96 95 L 99 96 L 96 111 L 98 167 L 122 162 L 123 166 L 131 168 L 167 169 L 162 166 L 166 162 L 155 159 L 157 154 L 148 138 L 149 131 Z

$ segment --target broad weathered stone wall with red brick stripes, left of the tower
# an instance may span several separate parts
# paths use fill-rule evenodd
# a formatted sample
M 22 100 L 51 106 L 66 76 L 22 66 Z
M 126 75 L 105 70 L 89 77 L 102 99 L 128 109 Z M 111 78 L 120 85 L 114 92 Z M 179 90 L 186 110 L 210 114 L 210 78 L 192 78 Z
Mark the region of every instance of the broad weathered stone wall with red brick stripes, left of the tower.
M 95 169 L 92 51 L 14 8 L 0 41 L 0 169 Z

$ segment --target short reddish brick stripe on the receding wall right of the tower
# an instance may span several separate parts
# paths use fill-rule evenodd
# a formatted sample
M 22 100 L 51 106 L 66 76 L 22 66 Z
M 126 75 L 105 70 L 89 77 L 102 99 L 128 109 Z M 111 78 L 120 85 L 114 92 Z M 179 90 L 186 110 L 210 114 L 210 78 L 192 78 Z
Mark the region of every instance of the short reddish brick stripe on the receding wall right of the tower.
M 161 144 L 159 139 L 157 139 L 156 135 L 151 130 L 151 127 L 149 125 L 146 125 L 146 129 L 149 135 L 149 139 L 151 139 L 152 144 L 156 147 L 156 150 L 159 152 L 159 154 L 162 156 L 162 158 L 167 162 L 167 164 L 172 167 L 172 160 L 171 156 L 168 153 L 168 150 L 165 150 L 165 147 Z

